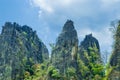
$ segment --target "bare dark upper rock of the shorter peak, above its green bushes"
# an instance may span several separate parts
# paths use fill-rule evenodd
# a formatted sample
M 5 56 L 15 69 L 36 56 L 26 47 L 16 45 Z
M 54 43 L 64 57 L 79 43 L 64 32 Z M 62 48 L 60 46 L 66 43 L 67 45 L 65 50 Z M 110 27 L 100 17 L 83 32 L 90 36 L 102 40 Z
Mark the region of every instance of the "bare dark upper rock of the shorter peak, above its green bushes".
M 85 51 L 87 52 L 87 55 L 88 56 L 92 56 L 91 54 L 91 51 L 90 51 L 90 48 L 96 48 L 97 49 L 97 52 L 96 55 L 98 55 L 98 61 L 101 62 L 101 56 L 100 56 L 100 46 L 99 46 L 99 42 L 98 40 L 92 36 L 92 34 L 89 34 L 89 35 L 86 35 L 84 40 L 81 42 L 80 46 L 79 46 L 79 55 L 80 55 L 80 58 L 81 60 L 86 64 L 88 65 L 88 59 L 87 57 L 85 56 Z

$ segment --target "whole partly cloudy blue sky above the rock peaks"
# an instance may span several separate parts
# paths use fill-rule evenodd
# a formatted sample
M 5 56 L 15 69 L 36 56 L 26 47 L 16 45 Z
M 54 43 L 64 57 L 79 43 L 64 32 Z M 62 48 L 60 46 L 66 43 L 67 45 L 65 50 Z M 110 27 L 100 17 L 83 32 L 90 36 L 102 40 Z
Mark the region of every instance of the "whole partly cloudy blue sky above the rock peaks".
M 6 21 L 27 24 L 49 47 L 67 19 L 74 21 L 79 41 L 92 33 L 101 51 L 111 51 L 110 22 L 120 18 L 120 0 L 0 0 L 0 26 Z

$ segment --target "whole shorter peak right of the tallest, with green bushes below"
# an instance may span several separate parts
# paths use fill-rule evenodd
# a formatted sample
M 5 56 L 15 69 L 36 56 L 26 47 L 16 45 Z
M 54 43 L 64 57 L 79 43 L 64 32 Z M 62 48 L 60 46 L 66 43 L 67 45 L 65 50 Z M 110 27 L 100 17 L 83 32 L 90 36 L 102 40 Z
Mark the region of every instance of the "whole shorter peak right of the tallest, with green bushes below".
M 79 46 L 79 57 L 87 70 L 82 79 L 93 80 L 95 79 L 95 76 L 99 76 L 96 79 L 102 80 L 104 70 L 100 56 L 99 42 L 92 36 L 92 34 L 86 35 L 84 40 L 81 42 Z M 81 68 L 81 70 L 84 70 L 84 68 Z M 78 73 L 80 74 L 81 71 Z

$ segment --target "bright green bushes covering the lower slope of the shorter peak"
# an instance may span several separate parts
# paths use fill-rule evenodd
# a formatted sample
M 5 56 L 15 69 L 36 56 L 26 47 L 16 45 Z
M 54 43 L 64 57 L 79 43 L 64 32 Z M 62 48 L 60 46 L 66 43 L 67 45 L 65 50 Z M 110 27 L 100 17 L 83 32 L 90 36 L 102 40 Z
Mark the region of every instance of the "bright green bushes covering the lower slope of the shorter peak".
M 87 63 L 78 58 L 79 73 L 85 80 L 101 80 L 105 75 L 104 65 L 100 61 L 100 56 L 98 55 L 98 49 L 96 46 L 89 47 L 89 53 L 84 50 L 83 55 L 85 56 Z

